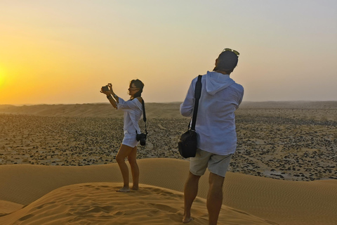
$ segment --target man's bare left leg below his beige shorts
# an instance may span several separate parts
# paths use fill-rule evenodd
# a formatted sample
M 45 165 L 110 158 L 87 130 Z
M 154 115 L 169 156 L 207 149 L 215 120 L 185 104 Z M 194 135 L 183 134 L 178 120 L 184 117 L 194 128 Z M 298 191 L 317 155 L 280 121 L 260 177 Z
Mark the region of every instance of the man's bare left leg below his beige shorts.
M 192 221 L 191 207 L 192 207 L 192 203 L 195 197 L 197 197 L 199 179 L 200 179 L 200 176 L 196 176 L 190 172 L 190 174 L 188 175 L 187 181 L 185 183 L 185 188 L 184 188 L 185 211 L 184 211 L 184 217 L 183 217 L 184 224 L 187 224 L 188 222 Z

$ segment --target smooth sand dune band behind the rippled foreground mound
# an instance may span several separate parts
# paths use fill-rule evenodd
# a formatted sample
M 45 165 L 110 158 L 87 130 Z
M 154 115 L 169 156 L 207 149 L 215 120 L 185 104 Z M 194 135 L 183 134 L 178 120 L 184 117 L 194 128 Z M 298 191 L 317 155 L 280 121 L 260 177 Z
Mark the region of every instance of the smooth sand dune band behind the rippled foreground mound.
M 178 191 L 179 196 L 182 196 L 188 173 L 188 161 L 143 159 L 139 160 L 138 165 L 142 185 Z M 205 176 L 201 177 L 199 198 L 206 198 L 208 174 L 206 172 Z M 51 191 L 67 185 L 121 182 L 116 164 L 85 167 L 1 165 L 0 176 L 4 177 L 0 181 L 0 200 L 22 205 L 31 204 Z M 336 180 L 296 182 L 228 172 L 223 204 L 224 207 L 231 207 L 234 211 L 263 218 L 263 221 L 271 224 L 334 224 L 337 220 L 336 188 Z M 183 198 L 180 197 L 176 198 L 177 205 L 183 204 Z M 203 208 L 201 206 L 201 209 L 204 211 L 198 211 L 197 217 L 206 213 L 206 205 L 203 205 Z M 27 216 L 23 212 L 20 216 Z M 1 219 L 9 217 L 11 214 L 0 217 L 0 223 Z

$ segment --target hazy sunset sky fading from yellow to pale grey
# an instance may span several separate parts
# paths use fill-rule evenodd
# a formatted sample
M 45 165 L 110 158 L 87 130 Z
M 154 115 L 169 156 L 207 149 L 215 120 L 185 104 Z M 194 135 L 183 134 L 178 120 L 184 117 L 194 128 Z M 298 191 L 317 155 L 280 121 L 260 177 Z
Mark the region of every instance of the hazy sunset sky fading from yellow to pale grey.
M 183 101 L 226 47 L 244 101 L 337 101 L 336 0 L 0 0 L 0 104 L 127 99 L 136 78 Z

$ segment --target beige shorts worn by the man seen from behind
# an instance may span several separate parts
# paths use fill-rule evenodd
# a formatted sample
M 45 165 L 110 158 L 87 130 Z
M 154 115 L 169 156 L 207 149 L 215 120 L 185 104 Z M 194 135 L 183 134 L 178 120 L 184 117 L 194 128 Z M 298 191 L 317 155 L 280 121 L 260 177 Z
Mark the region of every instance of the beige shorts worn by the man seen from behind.
M 208 167 L 209 172 L 225 177 L 231 158 L 232 154 L 216 155 L 198 148 L 195 157 L 190 158 L 190 172 L 202 176 Z

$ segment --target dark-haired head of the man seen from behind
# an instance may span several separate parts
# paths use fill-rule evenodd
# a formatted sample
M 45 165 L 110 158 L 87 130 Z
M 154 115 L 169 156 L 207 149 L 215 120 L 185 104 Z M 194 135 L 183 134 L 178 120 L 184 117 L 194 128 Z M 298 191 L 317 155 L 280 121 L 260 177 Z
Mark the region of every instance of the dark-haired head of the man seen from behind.
M 234 68 L 237 66 L 238 57 L 232 51 L 223 51 L 218 56 L 218 60 L 216 62 L 216 67 L 213 71 L 220 70 L 225 72 L 232 72 Z

